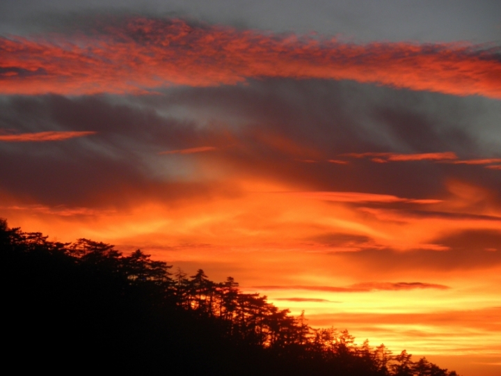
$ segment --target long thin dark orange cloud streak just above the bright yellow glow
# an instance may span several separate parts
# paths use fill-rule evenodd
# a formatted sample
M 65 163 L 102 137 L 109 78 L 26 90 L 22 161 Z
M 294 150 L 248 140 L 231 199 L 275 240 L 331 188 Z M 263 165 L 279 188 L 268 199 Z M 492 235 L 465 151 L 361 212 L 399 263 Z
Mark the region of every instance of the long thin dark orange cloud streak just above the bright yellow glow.
M 366 282 L 356 283 L 347 287 L 339 286 L 315 286 L 315 285 L 262 285 L 254 286 L 260 290 L 308 290 L 308 291 L 326 291 L 326 292 L 371 292 L 371 291 L 397 291 L 397 290 L 414 290 L 416 288 L 435 288 L 439 290 L 447 290 L 450 288 L 446 285 L 436 283 L 422 282 Z

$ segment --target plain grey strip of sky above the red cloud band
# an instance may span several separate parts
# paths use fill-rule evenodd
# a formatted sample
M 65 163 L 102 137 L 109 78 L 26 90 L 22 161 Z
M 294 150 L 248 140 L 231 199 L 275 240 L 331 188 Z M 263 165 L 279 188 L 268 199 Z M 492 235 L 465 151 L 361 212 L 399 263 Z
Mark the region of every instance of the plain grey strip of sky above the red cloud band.
M 47 29 L 77 15 L 103 12 L 191 17 L 278 32 L 317 31 L 357 41 L 499 41 L 501 19 L 501 6 L 491 0 L 3 0 L 0 33 Z

